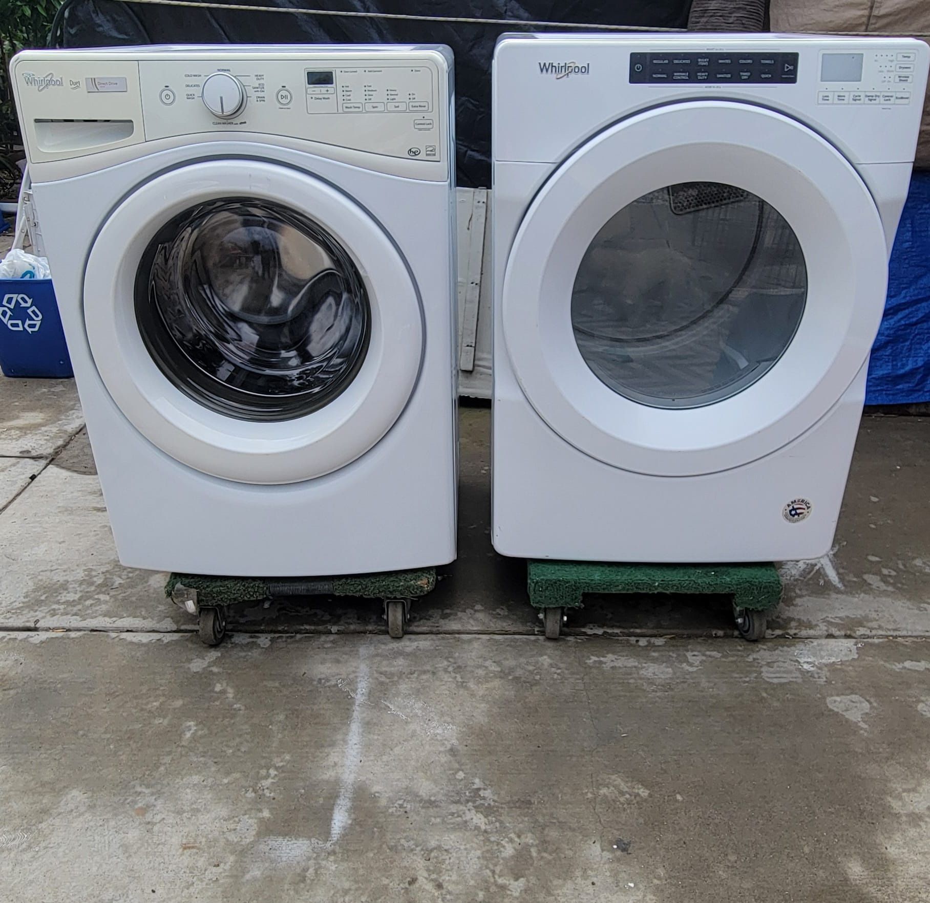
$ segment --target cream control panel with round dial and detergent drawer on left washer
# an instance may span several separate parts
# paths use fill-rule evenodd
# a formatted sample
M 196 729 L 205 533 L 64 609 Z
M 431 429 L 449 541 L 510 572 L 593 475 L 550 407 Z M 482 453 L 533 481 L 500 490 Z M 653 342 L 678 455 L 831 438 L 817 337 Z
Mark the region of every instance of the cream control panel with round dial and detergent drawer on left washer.
M 448 62 L 429 46 L 25 51 L 13 85 L 33 164 L 241 132 L 443 180 Z

